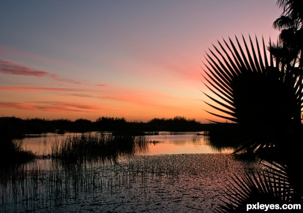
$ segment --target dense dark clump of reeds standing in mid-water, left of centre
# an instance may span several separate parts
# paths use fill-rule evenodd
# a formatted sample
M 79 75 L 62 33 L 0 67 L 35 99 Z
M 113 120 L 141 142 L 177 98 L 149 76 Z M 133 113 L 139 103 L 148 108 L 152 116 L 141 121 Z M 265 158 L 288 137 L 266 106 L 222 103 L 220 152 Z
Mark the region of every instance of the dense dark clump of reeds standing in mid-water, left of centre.
M 148 138 L 144 135 L 113 135 L 109 133 L 83 133 L 57 140 L 51 148 L 54 159 L 65 162 L 103 158 L 116 162 L 118 157 L 147 152 Z

